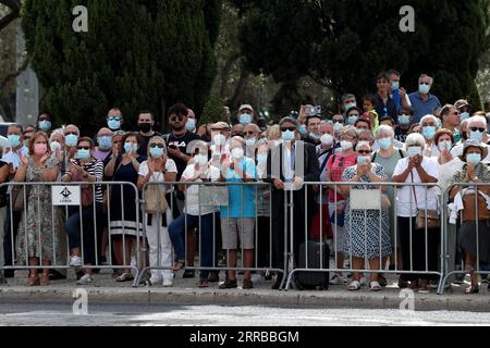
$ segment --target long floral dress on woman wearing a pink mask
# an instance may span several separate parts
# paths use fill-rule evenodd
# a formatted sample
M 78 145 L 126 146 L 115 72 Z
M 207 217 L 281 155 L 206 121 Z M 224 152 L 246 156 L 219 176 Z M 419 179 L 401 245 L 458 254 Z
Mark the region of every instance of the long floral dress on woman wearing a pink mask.
M 57 158 L 46 162 L 48 169 L 59 165 Z M 42 182 L 41 172 L 29 158 L 25 176 L 27 183 Z M 59 260 L 58 219 L 59 210 L 51 204 L 51 186 L 25 186 L 27 204 L 22 212 L 16 240 L 16 260 L 25 264 L 28 258 L 42 258 L 51 262 Z M 26 212 L 26 213 L 25 213 Z

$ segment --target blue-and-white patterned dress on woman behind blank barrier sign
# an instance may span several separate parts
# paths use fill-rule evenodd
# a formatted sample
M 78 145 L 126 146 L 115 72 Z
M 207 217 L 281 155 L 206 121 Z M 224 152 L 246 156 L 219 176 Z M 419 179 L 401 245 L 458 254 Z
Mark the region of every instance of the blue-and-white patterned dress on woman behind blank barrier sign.
M 387 181 L 384 169 L 372 163 L 372 173 Z M 348 182 L 356 175 L 356 166 L 345 169 L 342 182 Z M 369 183 L 367 175 L 360 177 L 362 183 Z M 377 189 L 373 185 L 358 184 L 353 189 Z M 357 258 L 373 259 L 391 254 L 390 219 L 388 210 L 359 210 L 350 208 L 350 198 L 345 207 L 345 241 L 344 254 Z M 381 219 L 381 221 L 380 221 Z M 381 226 L 381 233 L 380 233 Z M 365 231 L 366 229 L 366 231 Z

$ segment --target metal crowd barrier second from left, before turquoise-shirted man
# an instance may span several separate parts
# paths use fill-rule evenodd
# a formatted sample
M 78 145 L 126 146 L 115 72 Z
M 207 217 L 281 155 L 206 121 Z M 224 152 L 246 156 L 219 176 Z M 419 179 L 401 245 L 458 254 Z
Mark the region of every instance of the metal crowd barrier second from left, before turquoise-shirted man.
M 249 271 L 256 271 L 256 272 L 277 272 L 284 274 L 285 269 L 284 268 L 278 268 L 274 264 L 272 264 L 272 219 L 271 219 L 271 201 L 268 197 L 271 196 L 271 186 L 269 184 L 265 183 L 215 183 L 215 182 L 204 182 L 204 183 L 182 183 L 182 182 L 173 182 L 173 183 L 147 183 L 143 189 L 142 189 L 142 214 L 143 214 L 143 221 L 145 222 L 146 219 L 148 219 L 148 214 L 146 212 L 146 200 L 147 200 L 147 191 L 149 187 L 159 187 L 161 189 L 161 192 L 164 191 L 167 197 L 167 206 L 170 212 L 174 213 L 175 210 L 181 210 L 184 208 L 187 210 L 188 208 L 188 201 L 185 200 L 185 202 L 177 202 L 177 199 L 175 197 L 175 192 L 179 189 L 179 187 L 182 186 L 198 186 L 199 187 L 199 194 L 198 194 L 198 206 L 199 211 L 197 215 L 197 225 L 193 228 L 188 228 L 188 225 L 191 224 L 191 220 L 193 220 L 192 216 L 188 214 L 185 215 L 184 219 L 184 247 L 185 247 L 185 270 L 195 270 L 195 271 L 209 271 L 209 272 L 220 272 L 220 271 L 234 271 L 234 272 L 249 272 Z M 230 250 L 234 249 L 223 249 L 221 246 L 221 237 L 222 237 L 222 231 L 221 231 L 221 223 L 226 224 L 230 226 L 230 213 L 226 214 L 226 217 L 222 217 L 220 215 L 220 211 L 223 207 L 228 208 L 228 211 L 230 212 L 230 202 L 229 202 L 229 194 L 228 190 L 231 187 L 240 187 L 242 192 L 240 194 L 242 198 L 241 202 L 241 212 L 238 216 L 244 216 L 244 210 L 249 204 L 249 202 L 245 201 L 245 189 L 253 188 L 253 197 L 255 200 L 255 211 L 253 213 L 253 217 L 248 217 L 249 220 L 254 220 L 254 260 L 252 264 L 245 264 L 245 249 L 244 244 L 242 241 L 242 237 L 244 236 L 244 224 L 242 223 L 241 228 L 237 231 L 238 235 L 238 243 L 240 248 L 237 248 L 236 251 L 240 251 L 240 260 L 236 260 L 236 265 L 233 266 L 230 263 Z M 159 196 L 160 197 L 160 196 Z M 169 201 L 170 199 L 170 201 Z M 183 207 L 182 207 L 183 206 Z M 158 211 L 151 213 L 151 222 L 154 223 L 154 219 L 157 220 L 158 226 L 161 226 L 161 219 L 167 219 L 169 215 L 166 212 L 166 214 L 160 210 L 160 203 L 157 203 Z M 204 232 L 207 231 L 206 228 L 209 228 L 209 226 L 205 226 L 204 224 L 209 224 L 209 216 L 204 216 L 201 214 L 201 209 L 205 209 L 204 207 L 212 207 L 212 261 L 211 265 L 204 265 L 203 257 L 204 254 L 208 253 L 209 250 L 203 250 L 206 246 L 206 240 L 203 240 L 203 238 L 208 238 L 209 236 L 204 236 Z M 209 209 L 208 209 L 209 210 Z M 179 214 L 183 213 L 182 211 L 179 212 Z M 172 214 L 175 216 L 175 214 Z M 206 214 L 209 215 L 209 214 Z M 195 216 L 195 215 L 194 215 Z M 168 219 L 172 220 L 172 219 Z M 206 222 L 205 222 L 206 220 Z M 175 220 L 173 220 L 174 222 Z M 138 279 L 135 279 L 135 284 L 143 283 L 143 277 L 147 274 L 148 271 L 151 270 L 167 270 L 172 271 L 174 268 L 173 261 L 175 261 L 175 256 L 172 254 L 171 260 L 172 262 L 169 264 L 169 258 L 167 253 L 162 257 L 162 248 L 166 248 L 164 243 L 162 245 L 161 238 L 166 239 L 166 243 L 168 243 L 169 237 L 167 234 L 169 234 L 169 227 L 170 227 L 170 221 L 168 221 L 167 228 L 159 228 L 157 233 L 157 238 L 155 236 L 152 239 L 152 245 L 149 246 L 150 253 L 156 253 L 157 256 L 152 257 L 150 254 L 149 258 L 146 257 L 147 249 L 144 249 L 144 258 L 143 260 L 150 259 L 150 264 L 145 265 L 139 273 Z M 188 240 L 187 240 L 187 232 L 194 233 L 193 231 L 197 228 L 198 231 L 198 246 L 199 246 L 199 253 L 197 260 L 191 260 L 191 262 L 197 261 L 196 264 L 189 264 L 189 254 L 193 256 L 195 252 L 194 250 L 188 249 Z M 264 235 L 265 231 L 267 229 L 267 236 Z M 261 232 L 259 232 L 261 231 Z M 155 234 L 155 231 L 151 229 L 151 233 Z M 284 234 L 285 235 L 285 234 Z M 148 237 L 148 226 L 146 223 L 143 224 L 143 236 L 144 240 L 150 241 L 150 239 L 146 238 Z M 145 239 L 146 238 L 146 239 Z M 155 247 L 156 244 L 156 247 Z M 208 240 L 209 244 L 209 240 Z M 166 248 L 167 250 L 169 248 Z M 220 251 L 223 253 L 225 264 L 219 264 L 218 256 Z M 259 260 L 260 258 L 260 260 Z M 167 264 L 162 263 L 162 259 L 166 259 Z M 192 257 L 194 259 L 194 257 Z M 154 260 L 154 262 L 151 262 Z M 156 261 L 156 262 L 155 262 Z

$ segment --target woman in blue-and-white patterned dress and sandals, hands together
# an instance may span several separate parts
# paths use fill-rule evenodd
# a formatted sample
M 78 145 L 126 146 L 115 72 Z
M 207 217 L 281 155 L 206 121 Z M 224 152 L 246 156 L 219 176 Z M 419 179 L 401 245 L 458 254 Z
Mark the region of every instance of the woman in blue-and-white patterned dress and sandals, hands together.
M 341 186 L 346 197 L 344 256 L 352 258 L 353 270 L 364 269 L 369 260 L 370 270 L 381 270 L 381 260 L 391 254 L 390 223 L 387 210 L 351 209 L 351 189 L 379 189 L 373 184 L 384 183 L 388 177 L 382 165 L 371 163 L 371 147 L 367 141 L 359 141 L 356 147 L 357 164 L 348 166 L 342 174 L 342 182 L 358 185 Z M 366 183 L 369 183 L 367 185 Z M 380 229 L 381 228 L 381 229 Z M 359 272 L 355 272 L 348 290 L 360 288 Z M 370 290 L 381 290 L 378 273 L 371 273 Z

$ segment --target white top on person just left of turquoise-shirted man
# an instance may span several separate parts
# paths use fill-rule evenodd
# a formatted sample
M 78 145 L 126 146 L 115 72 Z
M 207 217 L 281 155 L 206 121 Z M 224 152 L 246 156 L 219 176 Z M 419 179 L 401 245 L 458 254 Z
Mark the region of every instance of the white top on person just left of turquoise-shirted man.
M 188 179 L 195 176 L 194 171 L 194 162 L 191 161 L 191 163 L 186 166 L 184 173 L 182 173 L 182 179 Z M 208 170 L 204 173 L 205 178 L 216 178 L 220 176 L 220 170 L 216 166 L 209 165 Z M 203 183 L 200 177 L 193 183 Z M 215 207 L 211 206 L 200 206 L 199 208 L 199 185 L 193 184 L 187 186 L 187 189 L 185 191 L 185 208 L 184 212 L 186 214 L 198 216 L 210 214 L 216 211 Z

